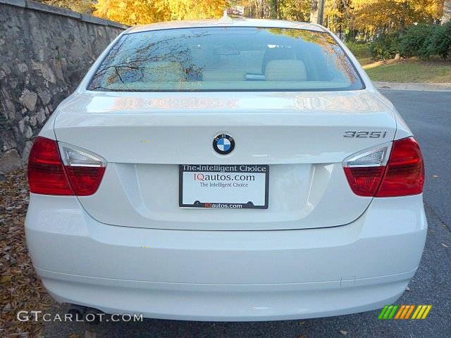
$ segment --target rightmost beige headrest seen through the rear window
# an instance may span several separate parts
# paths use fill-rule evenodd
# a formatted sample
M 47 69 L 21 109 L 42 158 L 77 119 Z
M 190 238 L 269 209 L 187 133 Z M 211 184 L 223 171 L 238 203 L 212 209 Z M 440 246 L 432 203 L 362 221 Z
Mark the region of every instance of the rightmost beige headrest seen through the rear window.
M 266 81 L 305 81 L 307 70 L 300 60 L 268 61 L 265 70 Z

